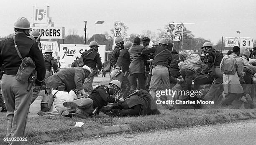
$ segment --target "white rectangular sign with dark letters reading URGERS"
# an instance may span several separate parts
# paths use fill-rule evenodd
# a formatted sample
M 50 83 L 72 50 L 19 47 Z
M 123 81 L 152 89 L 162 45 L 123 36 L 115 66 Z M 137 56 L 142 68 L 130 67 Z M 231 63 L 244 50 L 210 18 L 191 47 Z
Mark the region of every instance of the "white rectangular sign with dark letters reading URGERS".
M 41 39 L 64 39 L 65 28 L 64 27 L 33 27 L 43 33 Z

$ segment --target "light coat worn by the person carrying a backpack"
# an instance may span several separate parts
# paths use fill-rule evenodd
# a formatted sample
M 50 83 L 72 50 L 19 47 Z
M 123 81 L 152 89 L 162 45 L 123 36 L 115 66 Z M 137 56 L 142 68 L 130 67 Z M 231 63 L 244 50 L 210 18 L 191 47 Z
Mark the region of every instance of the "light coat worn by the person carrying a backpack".
M 234 58 L 237 55 L 235 53 L 232 53 L 229 55 L 230 58 Z M 220 62 L 223 64 L 223 60 L 228 58 L 228 55 L 225 55 Z M 235 93 L 235 94 L 241 94 L 243 93 L 243 88 L 240 84 L 239 78 L 243 78 L 243 59 L 242 58 L 235 58 L 235 68 L 236 73 L 235 74 L 223 74 L 223 86 L 224 86 L 224 93 Z

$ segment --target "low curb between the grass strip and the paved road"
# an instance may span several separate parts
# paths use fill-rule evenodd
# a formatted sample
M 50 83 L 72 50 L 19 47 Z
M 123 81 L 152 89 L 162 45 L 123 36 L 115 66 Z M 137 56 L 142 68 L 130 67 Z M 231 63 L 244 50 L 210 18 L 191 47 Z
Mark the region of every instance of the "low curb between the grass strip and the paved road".
M 202 121 L 201 123 L 197 123 L 192 120 L 187 120 L 186 123 L 181 125 L 180 127 L 175 127 L 174 125 L 169 125 L 169 127 L 165 128 L 171 129 L 171 128 L 182 128 L 182 127 L 187 127 L 187 126 L 195 126 L 195 125 L 209 125 L 209 124 L 214 124 L 214 123 L 224 123 L 224 122 L 233 122 L 233 121 L 238 121 L 238 120 L 248 120 L 248 119 L 256 119 L 256 112 L 238 112 L 238 113 L 231 113 L 231 114 L 217 114 L 217 115 L 212 115 L 212 116 L 205 116 L 203 118 L 198 118 L 198 121 Z M 131 132 L 131 131 L 147 131 L 143 130 L 143 125 L 139 127 L 140 125 L 137 124 L 133 126 L 134 124 L 131 125 L 112 125 L 112 126 L 103 126 L 99 128 L 77 128 L 77 130 L 72 130 L 68 131 L 65 133 L 67 135 L 73 136 L 73 137 L 88 137 L 92 135 L 102 135 L 102 134 L 115 134 L 119 132 Z M 132 127 L 132 128 L 131 128 Z M 159 128 L 161 129 L 161 128 Z M 156 130 L 158 130 L 156 128 Z M 57 138 L 59 134 L 57 132 L 44 132 L 41 133 L 40 135 L 36 135 L 37 139 L 40 139 L 40 142 L 58 142 L 60 140 L 54 140 Z M 62 141 L 65 141 L 63 138 Z M 72 141 L 72 140 L 69 140 Z

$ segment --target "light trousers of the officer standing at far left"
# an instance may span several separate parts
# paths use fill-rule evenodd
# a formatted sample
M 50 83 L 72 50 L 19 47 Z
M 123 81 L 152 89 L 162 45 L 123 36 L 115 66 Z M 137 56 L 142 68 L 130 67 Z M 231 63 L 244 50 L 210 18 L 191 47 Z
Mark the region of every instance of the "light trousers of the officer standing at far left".
M 6 103 L 6 137 L 23 137 L 28 120 L 32 90 L 27 91 L 28 82 L 21 84 L 15 76 L 3 75 L 1 87 Z M 21 142 L 13 142 L 20 143 Z

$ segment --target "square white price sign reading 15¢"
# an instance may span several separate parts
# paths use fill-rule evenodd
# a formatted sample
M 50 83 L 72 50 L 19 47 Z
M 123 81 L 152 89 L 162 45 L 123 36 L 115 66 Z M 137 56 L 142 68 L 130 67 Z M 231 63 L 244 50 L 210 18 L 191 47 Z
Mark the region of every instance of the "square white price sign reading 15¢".
M 47 24 L 49 18 L 49 6 L 33 7 L 33 24 Z

